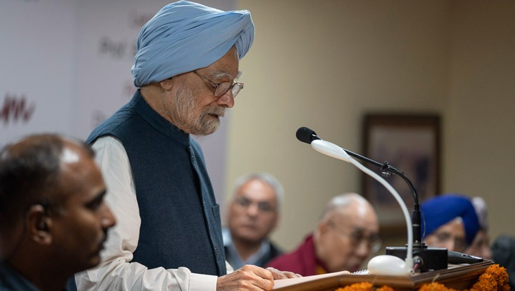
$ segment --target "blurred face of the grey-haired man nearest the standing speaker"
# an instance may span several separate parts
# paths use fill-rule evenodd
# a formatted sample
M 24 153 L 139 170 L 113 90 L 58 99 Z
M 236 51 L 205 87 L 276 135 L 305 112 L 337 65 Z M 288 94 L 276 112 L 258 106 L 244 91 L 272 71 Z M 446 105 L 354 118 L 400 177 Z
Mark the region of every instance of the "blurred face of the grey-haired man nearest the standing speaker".
M 233 240 L 261 243 L 277 225 L 277 207 L 273 187 L 260 180 L 244 183 L 227 211 L 227 226 Z

